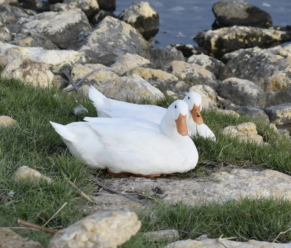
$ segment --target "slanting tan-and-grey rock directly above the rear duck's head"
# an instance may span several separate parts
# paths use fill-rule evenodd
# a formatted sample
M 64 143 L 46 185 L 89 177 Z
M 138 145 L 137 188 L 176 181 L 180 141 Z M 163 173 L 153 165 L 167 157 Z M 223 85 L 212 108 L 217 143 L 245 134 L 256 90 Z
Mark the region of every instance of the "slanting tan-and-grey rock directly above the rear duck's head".
M 173 61 L 167 64 L 163 70 L 185 81 L 190 87 L 203 82 L 203 84 L 215 88 L 217 84 L 213 73 L 195 63 L 190 64 L 182 61 Z

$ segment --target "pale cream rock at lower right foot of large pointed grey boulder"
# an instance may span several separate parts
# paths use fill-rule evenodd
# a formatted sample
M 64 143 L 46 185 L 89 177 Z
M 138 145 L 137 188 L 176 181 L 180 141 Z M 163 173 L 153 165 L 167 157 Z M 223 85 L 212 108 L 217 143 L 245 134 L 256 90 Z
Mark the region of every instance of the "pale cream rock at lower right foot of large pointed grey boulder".
M 116 73 L 120 75 L 125 74 L 126 72 L 132 70 L 133 68 L 140 66 L 150 65 L 150 61 L 145 58 L 137 55 L 126 53 L 124 55 L 118 56 L 115 59 L 115 62 L 110 66 Z

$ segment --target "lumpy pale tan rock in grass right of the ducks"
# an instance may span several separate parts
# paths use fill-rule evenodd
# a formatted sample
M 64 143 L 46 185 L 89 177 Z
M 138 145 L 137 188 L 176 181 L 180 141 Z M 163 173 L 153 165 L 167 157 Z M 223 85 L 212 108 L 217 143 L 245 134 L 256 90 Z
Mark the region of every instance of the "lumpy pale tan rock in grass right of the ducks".
M 257 126 L 252 122 L 245 122 L 236 126 L 226 126 L 222 133 L 225 135 L 230 134 L 232 137 L 236 137 L 243 142 L 251 141 L 259 145 L 264 144 L 263 137 L 258 135 Z

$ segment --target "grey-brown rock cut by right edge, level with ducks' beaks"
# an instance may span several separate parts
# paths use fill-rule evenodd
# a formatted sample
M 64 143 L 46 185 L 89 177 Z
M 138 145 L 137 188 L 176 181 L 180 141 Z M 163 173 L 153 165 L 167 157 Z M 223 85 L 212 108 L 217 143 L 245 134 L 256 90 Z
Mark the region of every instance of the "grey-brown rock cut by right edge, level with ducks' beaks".
M 270 106 L 265 109 L 265 112 L 275 125 L 291 122 L 291 103 Z

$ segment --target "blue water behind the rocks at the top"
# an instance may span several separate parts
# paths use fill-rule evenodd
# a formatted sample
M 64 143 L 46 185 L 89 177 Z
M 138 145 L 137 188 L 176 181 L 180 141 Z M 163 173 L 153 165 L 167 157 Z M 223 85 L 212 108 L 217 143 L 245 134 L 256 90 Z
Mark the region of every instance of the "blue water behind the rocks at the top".
M 197 44 L 193 36 L 202 30 L 211 29 L 214 15 L 211 11 L 213 3 L 218 0 L 146 0 L 159 13 L 160 27 L 155 36 L 164 47 L 175 43 Z M 119 15 L 134 0 L 117 0 L 115 13 Z M 275 26 L 291 25 L 291 0 L 248 0 L 252 5 L 268 12 Z

